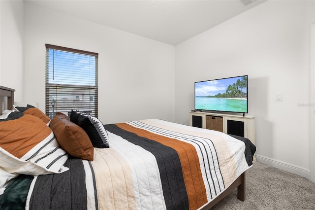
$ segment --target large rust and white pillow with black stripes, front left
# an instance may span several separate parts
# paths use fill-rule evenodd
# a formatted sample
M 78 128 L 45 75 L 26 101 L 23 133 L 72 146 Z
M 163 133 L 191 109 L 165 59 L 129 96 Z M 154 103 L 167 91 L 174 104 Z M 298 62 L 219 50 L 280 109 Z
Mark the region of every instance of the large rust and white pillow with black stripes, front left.
M 9 173 L 59 174 L 68 154 L 38 117 L 12 112 L 0 120 L 0 167 Z

